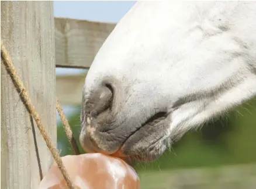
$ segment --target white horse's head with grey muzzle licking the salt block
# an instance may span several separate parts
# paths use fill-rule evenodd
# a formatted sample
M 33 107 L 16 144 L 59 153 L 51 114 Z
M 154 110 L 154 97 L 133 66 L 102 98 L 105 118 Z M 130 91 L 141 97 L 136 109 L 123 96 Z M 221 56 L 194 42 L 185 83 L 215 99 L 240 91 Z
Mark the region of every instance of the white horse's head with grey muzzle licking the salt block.
M 80 142 L 151 161 L 255 95 L 256 2 L 137 2 L 88 72 Z

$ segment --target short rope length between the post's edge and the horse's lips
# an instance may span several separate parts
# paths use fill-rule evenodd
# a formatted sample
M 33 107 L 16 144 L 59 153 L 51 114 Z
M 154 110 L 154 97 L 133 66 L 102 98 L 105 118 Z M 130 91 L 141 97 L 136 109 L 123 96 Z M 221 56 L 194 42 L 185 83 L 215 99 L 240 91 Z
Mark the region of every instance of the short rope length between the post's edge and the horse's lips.
M 64 111 L 61 108 L 60 102 L 58 101 L 58 99 L 56 99 L 56 109 L 58 110 L 58 115 L 60 115 L 60 119 L 61 122 L 63 123 L 64 129 L 65 129 L 65 133 L 67 135 L 68 141 L 70 141 L 71 147 L 75 153 L 75 155 L 79 155 L 79 149 L 77 146 L 77 141 L 75 141 L 74 136 L 72 135 L 72 131 L 70 129 L 70 125 L 68 124 L 68 120 L 65 117 Z

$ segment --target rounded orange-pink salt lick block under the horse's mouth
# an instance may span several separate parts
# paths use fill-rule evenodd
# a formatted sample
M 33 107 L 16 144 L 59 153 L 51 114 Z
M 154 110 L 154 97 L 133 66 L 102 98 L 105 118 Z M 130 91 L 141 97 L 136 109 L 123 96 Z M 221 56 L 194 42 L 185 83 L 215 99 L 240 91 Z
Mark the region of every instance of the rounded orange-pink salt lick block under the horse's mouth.
M 61 158 L 72 183 L 81 189 L 139 189 L 134 169 L 122 159 L 103 154 L 67 155 Z M 56 163 L 41 180 L 39 189 L 68 188 Z

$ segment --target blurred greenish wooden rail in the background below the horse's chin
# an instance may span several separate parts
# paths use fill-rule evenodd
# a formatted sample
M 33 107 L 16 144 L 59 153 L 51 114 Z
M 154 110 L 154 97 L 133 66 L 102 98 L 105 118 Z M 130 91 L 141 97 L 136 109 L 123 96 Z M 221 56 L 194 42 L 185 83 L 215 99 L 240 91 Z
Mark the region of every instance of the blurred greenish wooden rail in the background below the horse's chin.
M 255 188 L 256 164 L 139 172 L 141 189 Z

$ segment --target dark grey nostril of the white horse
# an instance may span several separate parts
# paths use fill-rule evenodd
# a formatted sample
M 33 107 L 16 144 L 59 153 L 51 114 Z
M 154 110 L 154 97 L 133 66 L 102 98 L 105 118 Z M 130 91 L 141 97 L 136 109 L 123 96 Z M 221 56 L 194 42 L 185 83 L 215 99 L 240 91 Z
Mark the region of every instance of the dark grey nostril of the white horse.
M 110 84 L 101 86 L 96 92 L 92 92 L 92 97 L 87 102 L 87 108 L 91 109 L 90 115 L 97 117 L 100 113 L 111 109 L 113 103 L 113 88 Z

